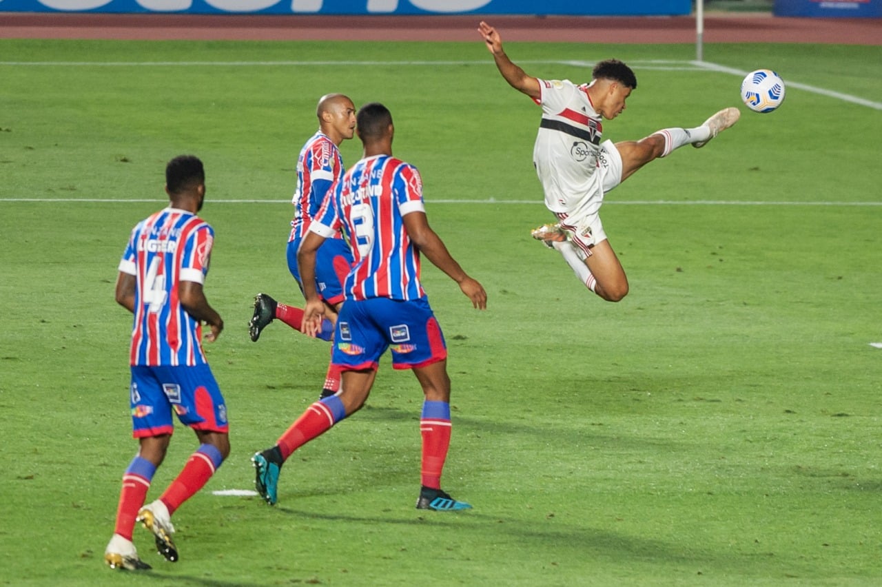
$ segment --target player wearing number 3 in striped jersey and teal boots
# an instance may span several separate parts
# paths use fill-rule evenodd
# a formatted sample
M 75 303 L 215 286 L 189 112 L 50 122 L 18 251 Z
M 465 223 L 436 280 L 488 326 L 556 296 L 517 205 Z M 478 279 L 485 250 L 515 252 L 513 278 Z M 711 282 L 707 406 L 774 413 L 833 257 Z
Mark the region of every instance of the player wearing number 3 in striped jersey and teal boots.
M 441 489 L 451 437 L 450 378 L 445 339 L 420 282 L 420 256 L 459 284 L 475 308 L 487 307 L 487 294 L 470 278 L 429 227 L 416 167 L 392 157 L 392 115 L 382 104 L 363 106 L 357 115 L 363 159 L 335 186 L 310 224 L 298 264 L 306 296 L 308 334 L 320 331 L 327 307 L 315 286 L 317 253 L 342 229 L 355 264 L 344 284 L 346 301 L 334 331 L 332 361 L 342 371 L 337 395 L 310 405 L 262 454 L 269 463 L 258 492 L 276 502 L 281 465 L 296 449 L 364 405 L 377 375 L 380 356 L 392 351 L 392 367 L 413 369 L 422 386 L 422 487 L 417 509 L 469 509 Z

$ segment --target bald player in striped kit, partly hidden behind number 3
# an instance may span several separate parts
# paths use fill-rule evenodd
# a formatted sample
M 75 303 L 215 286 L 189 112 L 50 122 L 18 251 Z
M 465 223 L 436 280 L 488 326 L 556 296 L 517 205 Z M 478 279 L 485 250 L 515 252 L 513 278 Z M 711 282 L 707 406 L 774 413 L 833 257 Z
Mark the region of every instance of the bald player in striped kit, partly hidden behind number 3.
M 318 100 L 316 108 L 318 131 L 306 141 L 297 158 L 297 186 L 292 198 L 294 219 L 288 235 L 288 271 L 303 290 L 303 281 L 297 268 L 297 249 L 303 236 L 309 231 L 312 217 L 325 201 L 331 184 L 343 176 L 343 159 L 340 144 L 355 136 L 355 105 L 341 93 L 328 93 Z M 328 239 L 318 251 L 316 279 L 318 291 L 328 307 L 323 329 L 318 338 L 330 340 L 333 323 L 343 302 L 342 281 L 352 264 L 348 244 L 338 234 Z M 303 331 L 303 309 L 273 300 L 267 294 L 254 298 L 254 315 L 248 324 L 251 340 L 258 341 L 260 332 L 267 324 L 278 318 L 296 331 Z M 329 366 L 321 397 L 333 395 L 340 390 L 340 372 Z M 258 459 L 259 460 L 259 459 Z M 262 464 L 256 462 L 256 466 Z

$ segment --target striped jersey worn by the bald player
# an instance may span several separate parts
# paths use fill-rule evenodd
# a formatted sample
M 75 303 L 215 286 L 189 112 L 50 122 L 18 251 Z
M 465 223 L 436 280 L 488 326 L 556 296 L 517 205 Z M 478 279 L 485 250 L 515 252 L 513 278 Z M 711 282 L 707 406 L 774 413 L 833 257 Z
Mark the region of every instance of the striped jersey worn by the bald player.
M 306 235 L 333 182 L 343 176 L 343 171 L 343 158 L 333 140 L 319 130 L 306 141 L 297 157 L 297 187 L 291 198 L 294 219 L 288 242 Z M 340 238 L 340 234 L 334 238 Z

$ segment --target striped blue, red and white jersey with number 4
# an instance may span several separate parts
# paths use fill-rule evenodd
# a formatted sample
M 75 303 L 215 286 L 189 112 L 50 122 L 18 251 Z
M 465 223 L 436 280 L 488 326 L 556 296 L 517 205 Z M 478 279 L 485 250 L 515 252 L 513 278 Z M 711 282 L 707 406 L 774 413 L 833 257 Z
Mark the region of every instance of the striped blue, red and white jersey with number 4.
M 196 214 L 166 208 L 131 231 L 119 271 L 134 275 L 131 365 L 199 365 L 202 327 L 181 305 L 181 281 L 205 283 L 214 230 Z

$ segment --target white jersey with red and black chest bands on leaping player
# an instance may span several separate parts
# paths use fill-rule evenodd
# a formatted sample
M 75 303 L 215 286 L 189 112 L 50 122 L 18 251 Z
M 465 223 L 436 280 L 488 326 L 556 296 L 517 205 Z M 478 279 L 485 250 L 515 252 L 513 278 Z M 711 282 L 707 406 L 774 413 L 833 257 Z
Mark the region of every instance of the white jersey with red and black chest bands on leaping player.
M 551 212 L 593 215 L 603 200 L 601 174 L 595 173 L 601 151 L 602 118 L 588 98 L 587 85 L 570 80 L 539 80 L 542 122 L 533 148 L 533 164 L 545 205 Z M 594 197 L 586 196 L 595 194 Z M 587 205 L 586 205 L 587 204 Z

